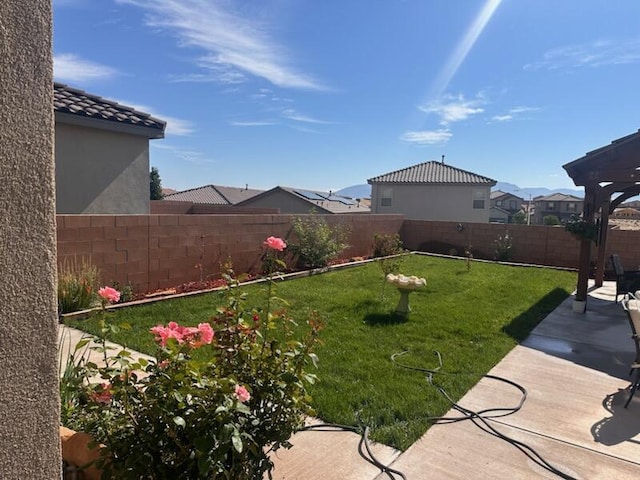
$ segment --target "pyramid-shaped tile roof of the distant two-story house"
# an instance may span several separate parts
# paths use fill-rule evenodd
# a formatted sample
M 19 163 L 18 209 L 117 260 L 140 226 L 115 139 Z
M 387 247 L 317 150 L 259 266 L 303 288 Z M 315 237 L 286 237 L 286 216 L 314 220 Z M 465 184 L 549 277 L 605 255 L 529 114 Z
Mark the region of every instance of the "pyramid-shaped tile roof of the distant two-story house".
M 433 184 L 485 184 L 495 185 L 491 178 L 483 177 L 442 162 L 424 162 L 367 180 L 368 183 L 433 183 Z

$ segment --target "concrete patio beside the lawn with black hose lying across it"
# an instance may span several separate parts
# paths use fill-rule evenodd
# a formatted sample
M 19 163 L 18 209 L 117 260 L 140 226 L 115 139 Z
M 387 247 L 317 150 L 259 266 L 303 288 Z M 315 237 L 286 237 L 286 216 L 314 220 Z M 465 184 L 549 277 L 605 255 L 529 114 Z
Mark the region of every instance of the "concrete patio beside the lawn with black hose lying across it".
M 592 289 L 584 315 L 574 313 L 572 297 L 567 298 L 490 372 L 528 392 L 521 410 L 490 420 L 491 425 L 535 449 L 565 477 L 544 470 L 515 446 L 470 421 L 435 425 L 405 452 L 373 445 L 376 458 L 409 480 L 640 478 L 640 394 L 623 408 L 635 351 L 614 294 L 612 282 Z M 484 378 L 459 403 L 477 411 L 514 407 L 519 400 L 514 387 Z M 359 440 L 354 433 L 300 432 L 290 450 L 281 449 L 274 456 L 273 478 L 401 478 L 381 473 L 363 460 Z

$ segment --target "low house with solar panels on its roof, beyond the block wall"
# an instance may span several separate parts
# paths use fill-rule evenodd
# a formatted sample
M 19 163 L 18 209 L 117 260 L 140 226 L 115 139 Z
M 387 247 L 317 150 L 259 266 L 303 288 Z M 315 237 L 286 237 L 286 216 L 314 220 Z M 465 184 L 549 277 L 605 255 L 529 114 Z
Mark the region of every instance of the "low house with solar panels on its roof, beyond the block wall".
M 361 202 L 332 192 L 274 187 L 240 202 L 238 207 L 277 208 L 280 213 L 370 213 Z

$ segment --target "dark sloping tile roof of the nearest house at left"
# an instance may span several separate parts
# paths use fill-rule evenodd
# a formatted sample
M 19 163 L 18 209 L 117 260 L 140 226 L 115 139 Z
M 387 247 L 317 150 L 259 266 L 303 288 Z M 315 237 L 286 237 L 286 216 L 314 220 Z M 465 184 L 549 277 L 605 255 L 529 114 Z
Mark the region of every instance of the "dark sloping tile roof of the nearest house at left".
M 148 128 L 153 131 L 152 138 L 164 137 L 166 122 L 163 120 L 62 83 L 53 85 L 53 109 L 56 113 Z

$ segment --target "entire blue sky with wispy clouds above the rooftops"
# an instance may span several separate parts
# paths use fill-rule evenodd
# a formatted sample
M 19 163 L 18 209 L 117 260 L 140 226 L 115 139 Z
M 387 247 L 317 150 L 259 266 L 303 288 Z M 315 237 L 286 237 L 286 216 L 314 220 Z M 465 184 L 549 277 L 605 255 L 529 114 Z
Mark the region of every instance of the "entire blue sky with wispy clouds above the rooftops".
M 57 81 L 168 122 L 164 187 L 521 187 L 640 128 L 637 0 L 53 0 Z

